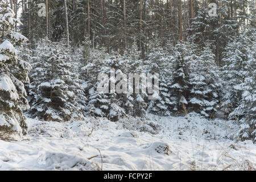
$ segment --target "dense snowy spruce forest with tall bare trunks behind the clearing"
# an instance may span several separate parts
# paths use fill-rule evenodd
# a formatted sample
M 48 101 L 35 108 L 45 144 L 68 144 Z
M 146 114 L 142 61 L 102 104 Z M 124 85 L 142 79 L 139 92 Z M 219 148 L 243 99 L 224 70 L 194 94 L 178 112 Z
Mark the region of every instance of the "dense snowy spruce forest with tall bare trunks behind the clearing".
M 210 3 L 217 5 L 217 16 L 209 14 L 215 11 Z M 23 134 L 22 110 L 46 121 L 88 115 L 117 121 L 195 111 L 210 119 L 225 113 L 241 126 L 242 140 L 255 141 L 254 0 L 0 4 L 0 79 L 8 76 L 20 96 L 13 98 L 14 91 L 1 89 L 0 82 L 0 120 L 2 115 L 12 126 L 15 118 Z M 18 51 L 11 51 L 6 41 Z M 149 93 L 143 92 L 98 93 L 98 74 L 110 74 L 111 68 L 115 74 L 159 73 L 158 99 L 148 100 Z

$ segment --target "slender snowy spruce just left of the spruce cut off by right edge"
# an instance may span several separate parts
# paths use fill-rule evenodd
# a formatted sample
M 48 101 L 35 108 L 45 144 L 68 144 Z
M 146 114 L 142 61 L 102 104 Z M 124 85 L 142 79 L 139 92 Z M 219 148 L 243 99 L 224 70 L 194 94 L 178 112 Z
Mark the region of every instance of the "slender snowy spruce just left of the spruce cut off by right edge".
M 224 80 L 224 96 L 222 104 L 230 106 L 231 111 L 236 109 L 242 100 L 242 84 L 246 77 L 246 64 L 248 60 L 247 47 L 253 45 L 255 37 L 253 30 L 247 29 L 240 37 L 229 43 L 223 53 L 225 63 L 222 68 L 222 80 Z M 242 113 L 230 113 L 229 118 L 240 117 Z

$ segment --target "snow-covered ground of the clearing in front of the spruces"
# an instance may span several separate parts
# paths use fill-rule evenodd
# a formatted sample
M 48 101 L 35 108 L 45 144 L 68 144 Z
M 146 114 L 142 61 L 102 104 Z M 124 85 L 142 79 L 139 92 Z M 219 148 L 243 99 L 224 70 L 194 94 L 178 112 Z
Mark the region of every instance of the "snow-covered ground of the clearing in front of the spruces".
M 239 142 L 234 121 L 196 114 L 148 121 L 28 118 L 29 134 L 0 140 L 0 170 L 247 170 L 256 146 Z

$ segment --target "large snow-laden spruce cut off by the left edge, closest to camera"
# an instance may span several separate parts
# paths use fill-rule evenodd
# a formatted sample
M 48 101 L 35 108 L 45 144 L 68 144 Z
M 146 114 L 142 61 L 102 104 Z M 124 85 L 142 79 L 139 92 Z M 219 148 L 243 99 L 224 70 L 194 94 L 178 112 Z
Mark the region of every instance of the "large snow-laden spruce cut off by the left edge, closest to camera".
M 22 109 L 28 109 L 26 90 L 23 83 L 28 83 L 30 64 L 20 60 L 15 46 L 27 40 L 14 32 L 14 12 L 8 6 L 9 1 L 0 2 L 0 132 L 27 133 L 26 118 Z

